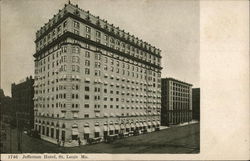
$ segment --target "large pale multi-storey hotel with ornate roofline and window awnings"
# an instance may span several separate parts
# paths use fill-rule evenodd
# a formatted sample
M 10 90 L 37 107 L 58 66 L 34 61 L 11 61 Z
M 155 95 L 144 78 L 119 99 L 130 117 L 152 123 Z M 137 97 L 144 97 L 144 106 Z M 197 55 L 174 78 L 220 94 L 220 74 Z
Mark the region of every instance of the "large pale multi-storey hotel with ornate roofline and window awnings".
M 160 125 L 160 49 L 69 2 L 36 33 L 35 128 L 74 146 Z

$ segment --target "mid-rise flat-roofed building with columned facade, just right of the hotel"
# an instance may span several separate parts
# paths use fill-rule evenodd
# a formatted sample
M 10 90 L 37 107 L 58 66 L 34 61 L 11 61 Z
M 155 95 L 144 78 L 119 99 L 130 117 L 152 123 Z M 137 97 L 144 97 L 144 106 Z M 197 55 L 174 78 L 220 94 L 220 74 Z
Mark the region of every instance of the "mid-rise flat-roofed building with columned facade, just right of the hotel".
M 174 78 L 161 79 L 161 125 L 192 120 L 192 85 Z

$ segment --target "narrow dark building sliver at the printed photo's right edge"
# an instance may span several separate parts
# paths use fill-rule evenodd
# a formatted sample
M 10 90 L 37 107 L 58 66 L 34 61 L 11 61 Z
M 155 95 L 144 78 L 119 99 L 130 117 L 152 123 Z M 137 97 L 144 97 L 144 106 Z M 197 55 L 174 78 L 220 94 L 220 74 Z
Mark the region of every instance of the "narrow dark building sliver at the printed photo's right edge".
M 200 121 L 200 88 L 192 89 L 193 119 Z

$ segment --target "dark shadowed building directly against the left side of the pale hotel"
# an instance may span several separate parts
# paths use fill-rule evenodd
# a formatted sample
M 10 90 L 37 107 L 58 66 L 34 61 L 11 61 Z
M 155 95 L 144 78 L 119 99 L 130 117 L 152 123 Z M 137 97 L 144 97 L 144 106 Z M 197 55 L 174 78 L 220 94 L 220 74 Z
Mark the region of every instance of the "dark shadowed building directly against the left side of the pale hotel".
M 22 80 L 19 84 L 11 85 L 11 94 L 14 100 L 15 117 L 18 127 L 28 130 L 34 128 L 34 79 L 32 76 Z

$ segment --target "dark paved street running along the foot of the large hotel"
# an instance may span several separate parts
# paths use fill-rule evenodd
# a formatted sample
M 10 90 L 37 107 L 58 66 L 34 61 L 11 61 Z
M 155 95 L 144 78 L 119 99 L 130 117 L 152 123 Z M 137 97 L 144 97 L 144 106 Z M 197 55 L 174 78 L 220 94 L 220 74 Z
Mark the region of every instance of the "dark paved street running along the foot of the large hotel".
M 23 134 L 23 153 L 199 153 L 199 124 L 173 127 L 158 132 L 80 147 L 64 148 Z M 16 136 L 13 130 L 12 136 Z M 13 147 L 16 147 L 13 138 Z M 13 152 L 17 148 L 13 148 Z

